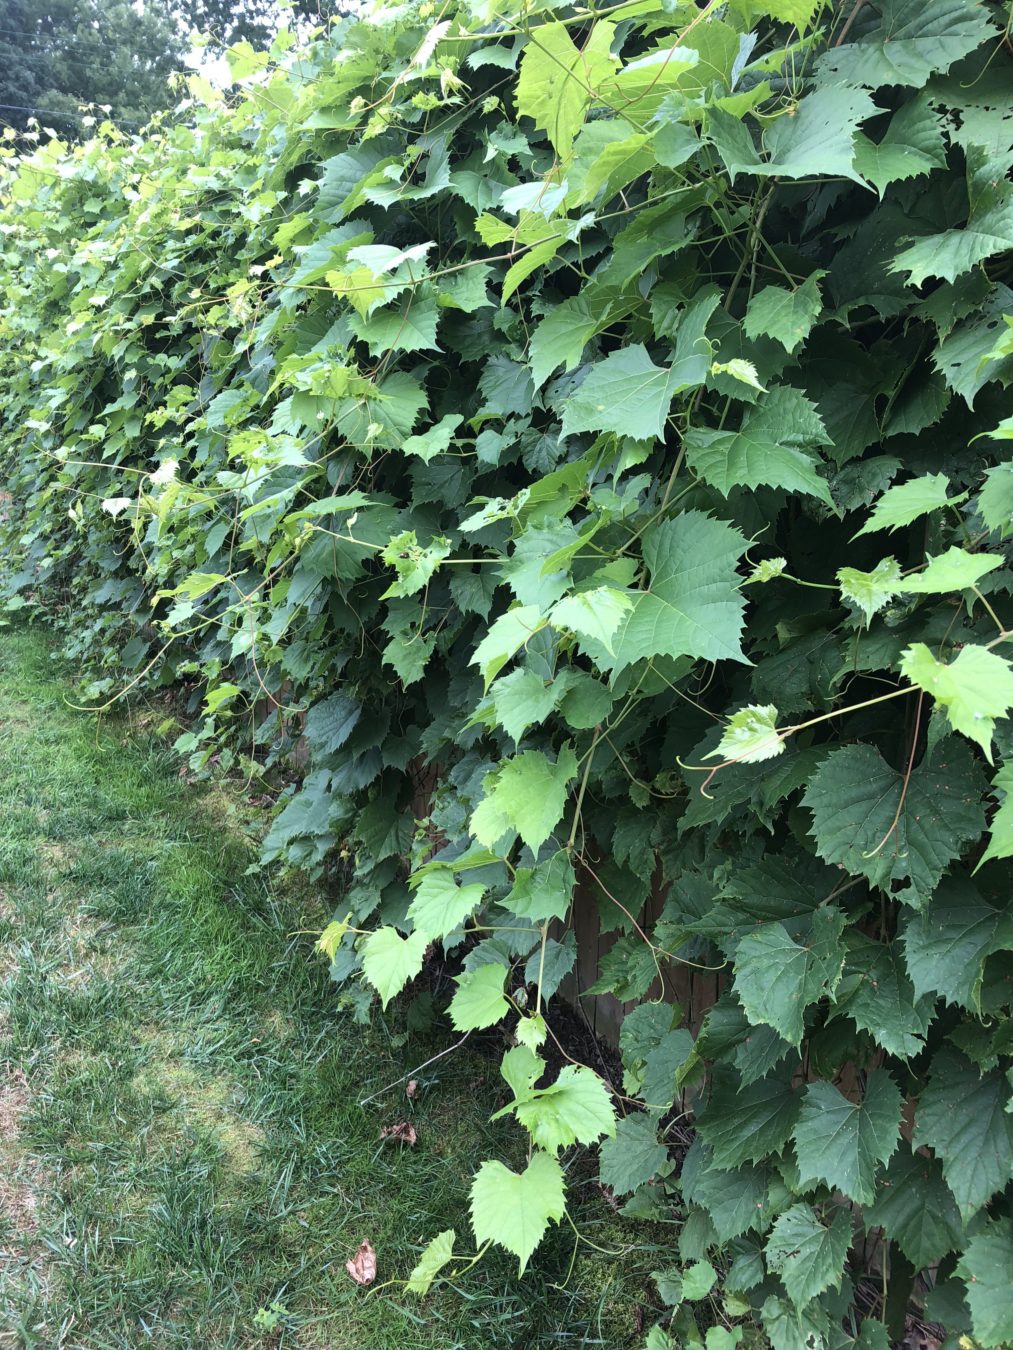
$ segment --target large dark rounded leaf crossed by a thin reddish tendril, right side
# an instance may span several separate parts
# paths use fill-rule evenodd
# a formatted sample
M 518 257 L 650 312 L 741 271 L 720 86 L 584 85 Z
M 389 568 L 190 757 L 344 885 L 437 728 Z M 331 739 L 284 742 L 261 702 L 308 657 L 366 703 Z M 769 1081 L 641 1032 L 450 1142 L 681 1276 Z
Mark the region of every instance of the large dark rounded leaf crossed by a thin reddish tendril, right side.
M 921 907 L 947 865 L 985 829 L 982 778 L 971 752 L 954 737 L 936 744 L 910 775 L 891 768 L 871 745 L 846 745 L 820 764 L 802 805 L 824 861 L 889 888 Z

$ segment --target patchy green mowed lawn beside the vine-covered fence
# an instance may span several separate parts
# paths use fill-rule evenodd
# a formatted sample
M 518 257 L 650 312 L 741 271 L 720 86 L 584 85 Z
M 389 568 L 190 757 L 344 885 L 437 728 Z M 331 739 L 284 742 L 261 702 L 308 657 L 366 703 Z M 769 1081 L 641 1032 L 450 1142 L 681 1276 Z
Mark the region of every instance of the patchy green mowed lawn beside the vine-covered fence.
M 523 1157 L 489 1125 L 498 1057 L 384 1091 L 446 1023 L 357 1026 L 312 952 L 332 898 L 276 892 L 239 792 L 69 688 L 43 633 L 0 629 L 0 1346 L 642 1345 L 671 1253 L 629 1247 L 579 1157 L 571 1212 L 604 1251 L 563 1224 L 521 1281 L 493 1251 L 421 1301 L 353 1284 L 365 1238 L 378 1282 L 442 1228 L 473 1247 L 473 1169 Z M 402 1119 L 415 1149 L 380 1139 Z

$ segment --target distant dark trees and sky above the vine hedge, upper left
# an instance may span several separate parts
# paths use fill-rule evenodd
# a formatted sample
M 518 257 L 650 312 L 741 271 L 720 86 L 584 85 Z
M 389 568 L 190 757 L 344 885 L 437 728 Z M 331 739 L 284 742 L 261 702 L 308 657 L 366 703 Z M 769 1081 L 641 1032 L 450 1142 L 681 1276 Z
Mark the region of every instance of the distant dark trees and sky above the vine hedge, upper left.
M 296 22 L 326 20 L 342 0 L 297 0 Z M 212 50 L 266 46 L 282 16 L 274 0 L 0 0 L 0 124 L 30 117 L 73 135 L 82 104 L 108 108 L 130 128 L 173 103 L 169 77 L 184 68 L 194 32 Z

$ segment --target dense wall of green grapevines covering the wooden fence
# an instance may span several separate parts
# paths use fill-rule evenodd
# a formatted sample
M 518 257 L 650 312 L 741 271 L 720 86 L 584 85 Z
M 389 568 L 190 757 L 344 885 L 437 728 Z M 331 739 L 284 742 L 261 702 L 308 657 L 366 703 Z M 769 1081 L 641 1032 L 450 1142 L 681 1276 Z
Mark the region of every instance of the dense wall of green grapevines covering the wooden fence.
M 7 143 L 4 593 L 95 703 L 182 688 L 193 771 L 304 747 L 263 857 L 346 860 L 359 1015 L 442 944 L 509 1029 L 529 1161 L 409 1288 L 523 1272 L 602 1141 L 682 1220 L 651 1346 L 910 1296 L 1010 1345 L 1009 7 L 425 0 L 230 59 Z M 540 1053 L 578 879 L 621 1099 Z

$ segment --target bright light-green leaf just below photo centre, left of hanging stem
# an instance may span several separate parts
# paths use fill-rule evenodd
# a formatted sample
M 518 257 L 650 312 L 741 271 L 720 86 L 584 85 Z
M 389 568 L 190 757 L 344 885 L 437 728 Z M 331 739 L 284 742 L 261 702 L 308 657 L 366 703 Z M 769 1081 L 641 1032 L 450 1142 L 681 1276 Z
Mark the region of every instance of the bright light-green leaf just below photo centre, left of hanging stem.
M 493 848 L 509 830 L 516 830 L 532 853 L 538 853 L 559 824 L 567 798 L 567 784 L 577 776 L 577 760 L 565 747 L 550 763 L 540 751 L 515 755 L 490 774 L 482 787 L 485 796 L 471 814 L 471 833 Z

